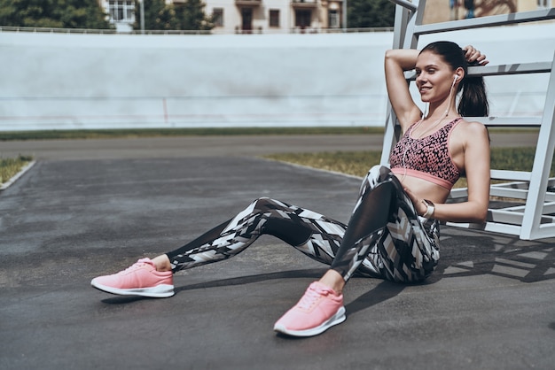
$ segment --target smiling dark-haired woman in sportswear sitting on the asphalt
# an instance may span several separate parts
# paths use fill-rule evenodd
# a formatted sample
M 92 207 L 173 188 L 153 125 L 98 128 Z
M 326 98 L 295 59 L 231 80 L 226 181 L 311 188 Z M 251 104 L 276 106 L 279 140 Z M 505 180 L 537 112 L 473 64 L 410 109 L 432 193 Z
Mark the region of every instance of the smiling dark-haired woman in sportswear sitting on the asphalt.
M 275 235 L 310 258 L 330 265 L 301 300 L 277 320 L 286 335 L 317 335 L 345 320 L 342 290 L 353 274 L 390 281 L 423 281 L 439 259 L 439 222 L 483 222 L 489 204 L 489 135 L 461 116 L 488 115 L 483 79 L 466 76 L 468 63 L 488 61 L 472 46 L 434 42 L 423 50 L 388 50 L 387 93 L 403 138 L 391 169 L 374 166 L 361 186 L 348 225 L 270 198 L 176 251 L 100 276 L 93 287 L 113 294 L 171 297 L 172 276 L 184 268 L 230 258 L 262 234 Z M 416 69 L 423 115 L 410 96 L 404 71 Z M 462 90 L 458 108 L 457 92 Z M 445 204 L 461 174 L 468 200 Z

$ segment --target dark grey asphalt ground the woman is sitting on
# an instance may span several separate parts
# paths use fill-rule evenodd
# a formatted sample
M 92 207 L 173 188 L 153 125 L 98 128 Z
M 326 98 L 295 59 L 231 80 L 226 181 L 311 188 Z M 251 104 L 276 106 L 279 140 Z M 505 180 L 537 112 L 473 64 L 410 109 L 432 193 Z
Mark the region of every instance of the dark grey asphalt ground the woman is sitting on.
M 429 281 L 354 278 L 348 320 L 307 339 L 271 328 L 324 267 L 270 236 L 176 274 L 175 297 L 90 288 L 92 277 L 173 249 L 256 197 L 347 220 L 358 179 L 254 154 L 379 139 L 268 139 L 0 142 L 3 155 L 39 159 L 0 193 L 0 368 L 553 368 L 551 239 L 445 227 Z

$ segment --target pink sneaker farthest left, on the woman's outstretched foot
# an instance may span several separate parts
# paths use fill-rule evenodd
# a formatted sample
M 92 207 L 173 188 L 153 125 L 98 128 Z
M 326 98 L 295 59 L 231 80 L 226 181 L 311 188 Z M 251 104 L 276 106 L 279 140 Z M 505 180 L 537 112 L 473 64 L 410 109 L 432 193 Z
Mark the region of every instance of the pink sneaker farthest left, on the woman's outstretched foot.
M 118 274 L 98 276 L 93 287 L 121 296 L 164 298 L 174 295 L 173 273 L 156 271 L 150 258 L 142 258 Z

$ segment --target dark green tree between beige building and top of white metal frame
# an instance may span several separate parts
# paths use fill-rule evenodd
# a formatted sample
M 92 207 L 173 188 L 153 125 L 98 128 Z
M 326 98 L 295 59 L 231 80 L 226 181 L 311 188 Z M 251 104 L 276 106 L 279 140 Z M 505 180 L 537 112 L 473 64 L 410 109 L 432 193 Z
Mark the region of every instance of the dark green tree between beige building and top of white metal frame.
M 389 0 L 348 0 L 349 28 L 393 27 L 395 4 Z

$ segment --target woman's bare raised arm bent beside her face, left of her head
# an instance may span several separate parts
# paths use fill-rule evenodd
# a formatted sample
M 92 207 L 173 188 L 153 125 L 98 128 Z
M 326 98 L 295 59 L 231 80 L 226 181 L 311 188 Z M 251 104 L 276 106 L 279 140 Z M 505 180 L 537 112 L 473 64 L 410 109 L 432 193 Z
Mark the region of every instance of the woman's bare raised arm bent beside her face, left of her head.
M 403 132 L 422 115 L 410 96 L 409 85 L 404 77 L 404 71 L 410 71 L 416 66 L 418 52 L 414 49 L 386 51 L 387 95 Z

